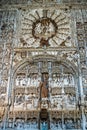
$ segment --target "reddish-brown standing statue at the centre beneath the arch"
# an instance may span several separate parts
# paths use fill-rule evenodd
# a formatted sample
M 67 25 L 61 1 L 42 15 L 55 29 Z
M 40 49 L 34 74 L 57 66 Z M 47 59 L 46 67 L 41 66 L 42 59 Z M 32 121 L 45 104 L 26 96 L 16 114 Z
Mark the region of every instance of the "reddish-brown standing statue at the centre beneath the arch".
M 48 75 L 42 75 L 42 82 L 40 83 L 40 97 L 47 98 L 48 97 Z

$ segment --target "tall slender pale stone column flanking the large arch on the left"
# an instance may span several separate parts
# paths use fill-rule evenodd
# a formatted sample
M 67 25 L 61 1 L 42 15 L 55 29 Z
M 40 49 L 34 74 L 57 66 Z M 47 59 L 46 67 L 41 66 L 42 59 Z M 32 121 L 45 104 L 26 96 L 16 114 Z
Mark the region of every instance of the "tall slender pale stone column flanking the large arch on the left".
M 12 103 L 11 93 L 12 93 L 12 78 L 13 78 L 13 59 L 14 59 L 14 45 L 13 41 L 11 43 L 11 55 L 10 55 L 10 65 L 9 65 L 9 72 L 8 72 L 8 84 L 7 84 L 7 91 L 6 91 L 6 111 L 4 117 L 4 130 L 6 130 L 7 124 L 9 122 L 9 111 L 10 106 Z

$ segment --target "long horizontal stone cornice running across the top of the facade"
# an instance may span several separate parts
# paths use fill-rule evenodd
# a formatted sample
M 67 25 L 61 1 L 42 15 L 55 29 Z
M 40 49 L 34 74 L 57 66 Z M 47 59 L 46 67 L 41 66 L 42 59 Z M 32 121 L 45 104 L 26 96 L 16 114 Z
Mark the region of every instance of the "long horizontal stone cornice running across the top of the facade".
M 19 10 L 26 10 L 26 9 L 38 9 L 38 8 L 52 8 L 52 9 L 87 9 L 87 3 L 50 3 L 50 4 L 0 4 L 1 9 L 11 10 L 13 8 Z

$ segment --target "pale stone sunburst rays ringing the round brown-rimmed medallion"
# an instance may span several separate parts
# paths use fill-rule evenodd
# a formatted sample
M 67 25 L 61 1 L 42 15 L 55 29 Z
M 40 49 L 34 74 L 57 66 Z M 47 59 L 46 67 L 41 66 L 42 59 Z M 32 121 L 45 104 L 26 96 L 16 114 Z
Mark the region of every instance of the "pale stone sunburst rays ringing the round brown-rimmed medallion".
M 34 10 L 33 13 L 30 12 L 26 15 L 23 15 L 22 20 L 22 36 L 26 40 L 29 46 L 40 46 L 40 38 L 35 38 L 33 36 L 33 25 L 35 22 L 40 21 L 43 18 L 49 18 L 52 21 L 54 21 L 56 28 L 55 35 L 49 39 L 49 45 L 51 47 L 57 47 L 61 45 L 67 45 L 69 44 L 69 40 L 67 42 L 67 37 L 70 36 L 70 24 L 69 19 L 64 13 L 57 12 L 56 10 L 50 11 L 50 10 Z M 67 42 L 68 44 L 63 44 L 64 42 Z

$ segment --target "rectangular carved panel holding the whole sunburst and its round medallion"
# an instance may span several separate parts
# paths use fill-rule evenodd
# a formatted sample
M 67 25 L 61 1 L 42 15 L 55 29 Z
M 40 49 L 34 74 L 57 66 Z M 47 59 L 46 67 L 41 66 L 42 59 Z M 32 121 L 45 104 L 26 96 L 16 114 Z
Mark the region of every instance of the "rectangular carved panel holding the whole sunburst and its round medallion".
M 70 14 L 60 10 L 22 12 L 20 46 L 71 47 Z

